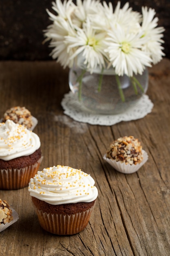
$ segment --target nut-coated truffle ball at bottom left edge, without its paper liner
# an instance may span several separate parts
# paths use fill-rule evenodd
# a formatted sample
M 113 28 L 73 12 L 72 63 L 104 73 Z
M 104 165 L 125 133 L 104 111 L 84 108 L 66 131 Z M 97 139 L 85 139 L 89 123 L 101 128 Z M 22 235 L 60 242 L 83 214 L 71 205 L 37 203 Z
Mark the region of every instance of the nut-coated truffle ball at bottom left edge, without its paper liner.
M 0 225 L 9 223 L 11 220 L 13 220 L 13 216 L 9 204 L 0 199 Z

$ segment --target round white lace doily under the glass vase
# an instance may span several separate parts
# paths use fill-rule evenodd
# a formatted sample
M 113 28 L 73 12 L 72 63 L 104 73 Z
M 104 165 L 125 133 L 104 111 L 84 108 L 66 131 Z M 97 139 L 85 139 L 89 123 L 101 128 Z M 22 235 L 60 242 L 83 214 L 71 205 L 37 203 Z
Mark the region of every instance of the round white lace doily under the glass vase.
M 103 115 L 96 114 L 82 106 L 78 101 L 76 94 L 71 91 L 64 94 L 61 105 L 64 109 L 64 114 L 73 118 L 75 121 L 88 124 L 99 124 L 110 126 L 121 121 L 136 120 L 145 117 L 152 111 L 153 103 L 148 95 L 144 94 L 141 99 L 132 108 L 119 115 Z

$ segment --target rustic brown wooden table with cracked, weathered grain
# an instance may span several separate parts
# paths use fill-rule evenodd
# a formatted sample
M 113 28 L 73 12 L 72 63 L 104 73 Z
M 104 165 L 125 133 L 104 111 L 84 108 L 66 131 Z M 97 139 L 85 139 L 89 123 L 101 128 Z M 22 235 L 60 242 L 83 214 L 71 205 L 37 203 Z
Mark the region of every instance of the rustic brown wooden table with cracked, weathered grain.
M 169 256 L 170 255 L 170 61 L 149 69 L 150 114 L 113 126 L 89 125 L 63 114 L 68 70 L 55 61 L 0 62 L 0 116 L 26 106 L 38 119 L 40 169 L 57 164 L 92 175 L 99 195 L 90 222 L 73 236 L 44 231 L 28 189 L 0 191 L 20 219 L 0 233 L 0 255 Z M 149 155 L 137 173 L 124 175 L 103 159 L 118 137 L 137 137 Z

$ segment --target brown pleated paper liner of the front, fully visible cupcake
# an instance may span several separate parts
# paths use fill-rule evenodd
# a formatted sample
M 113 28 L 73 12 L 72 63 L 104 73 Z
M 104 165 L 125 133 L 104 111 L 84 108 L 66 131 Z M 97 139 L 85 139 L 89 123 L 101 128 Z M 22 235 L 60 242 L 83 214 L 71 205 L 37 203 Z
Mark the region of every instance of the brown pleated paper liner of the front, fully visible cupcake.
M 56 235 L 73 235 L 85 229 L 94 206 L 81 213 L 71 215 L 43 213 L 42 210 L 38 210 L 35 206 L 34 208 L 40 225 L 44 230 Z

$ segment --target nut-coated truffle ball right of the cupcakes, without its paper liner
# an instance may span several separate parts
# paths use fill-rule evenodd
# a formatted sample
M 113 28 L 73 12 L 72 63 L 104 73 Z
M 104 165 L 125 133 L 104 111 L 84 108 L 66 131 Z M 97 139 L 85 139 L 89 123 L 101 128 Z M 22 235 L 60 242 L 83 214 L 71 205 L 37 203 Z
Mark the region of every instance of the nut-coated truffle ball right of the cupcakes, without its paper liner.
M 141 143 L 133 136 L 121 137 L 110 144 L 106 157 L 125 164 L 139 164 L 143 160 Z

